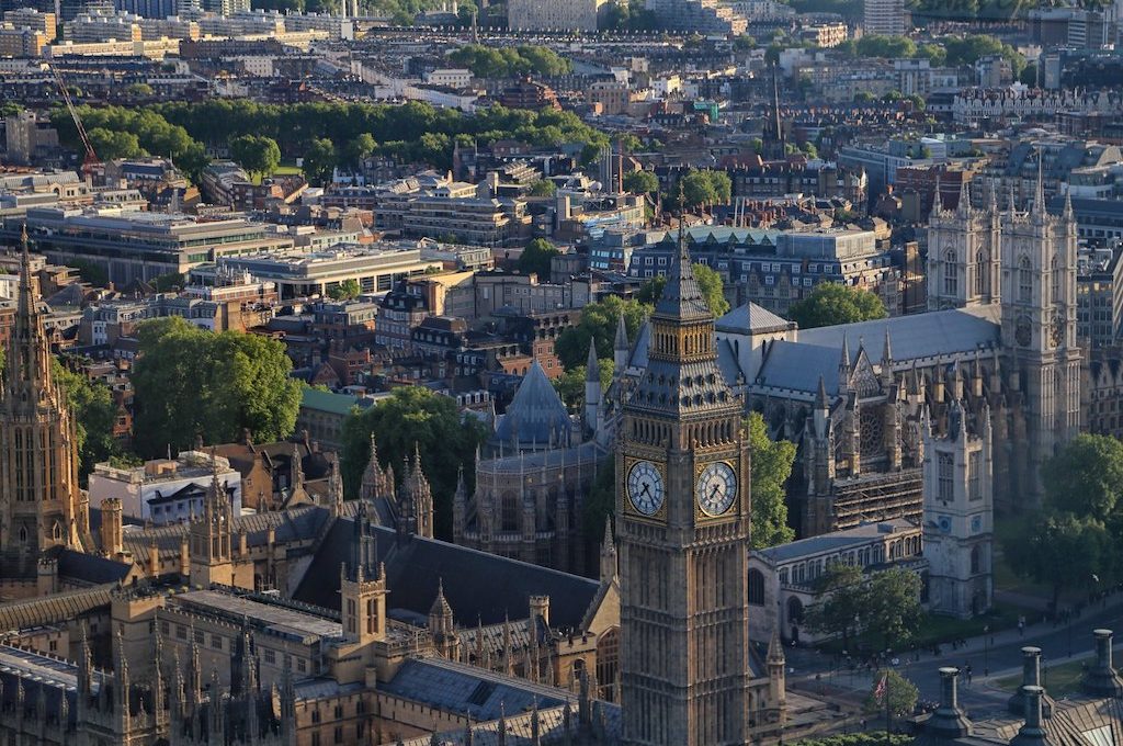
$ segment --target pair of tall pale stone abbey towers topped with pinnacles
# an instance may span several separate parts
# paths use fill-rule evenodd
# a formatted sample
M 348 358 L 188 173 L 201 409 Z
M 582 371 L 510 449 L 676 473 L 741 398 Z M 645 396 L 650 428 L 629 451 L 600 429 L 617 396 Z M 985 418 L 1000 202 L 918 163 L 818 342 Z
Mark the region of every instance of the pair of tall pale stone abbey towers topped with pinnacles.
M 1044 207 L 1038 174 L 1029 212 L 1005 210 L 992 190 L 987 207 L 939 199 L 929 220 L 929 309 L 994 306 L 1002 324 L 1002 381 L 1007 404 L 1024 415 L 1026 447 L 1003 455 L 997 484 L 1005 504 L 1040 502 L 1038 468 L 1072 438 L 1080 421 L 1080 351 L 1076 342 L 1076 219 L 1066 198 L 1059 216 Z M 995 390 L 995 386 L 990 386 Z M 1008 462 L 1008 463 L 1007 463 Z M 1028 498 L 1028 500 L 1026 500 Z

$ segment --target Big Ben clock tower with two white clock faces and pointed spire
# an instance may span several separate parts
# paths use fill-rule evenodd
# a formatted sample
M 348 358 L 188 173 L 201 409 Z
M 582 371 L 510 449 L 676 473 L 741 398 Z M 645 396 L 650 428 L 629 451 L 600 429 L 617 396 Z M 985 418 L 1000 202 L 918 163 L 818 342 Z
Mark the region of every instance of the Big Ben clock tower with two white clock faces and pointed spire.
M 749 451 L 682 228 L 650 324 L 617 449 L 623 743 L 746 744 Z

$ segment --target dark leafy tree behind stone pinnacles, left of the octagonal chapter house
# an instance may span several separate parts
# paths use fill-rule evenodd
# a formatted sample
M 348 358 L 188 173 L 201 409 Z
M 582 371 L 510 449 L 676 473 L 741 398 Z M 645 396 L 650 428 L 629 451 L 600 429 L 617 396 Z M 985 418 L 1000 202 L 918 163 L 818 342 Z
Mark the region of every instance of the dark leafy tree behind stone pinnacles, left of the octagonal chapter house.
M 344 420 L 343 476 L 347 494 L 358 494 L 363 471 L 371 458 L 371 435 L 383 465 L 393 466 L 399 483 L 403 460 L 421 455 L 421 468 L 432 488 L 437 536 L 451 538 L 453 494 L 460 468 L 471 489 L 475 479 L 476 447 L 486 438 L 480 420 L 463 416 L 456 400 L 424 386 L 401 386 L 374 407 Z

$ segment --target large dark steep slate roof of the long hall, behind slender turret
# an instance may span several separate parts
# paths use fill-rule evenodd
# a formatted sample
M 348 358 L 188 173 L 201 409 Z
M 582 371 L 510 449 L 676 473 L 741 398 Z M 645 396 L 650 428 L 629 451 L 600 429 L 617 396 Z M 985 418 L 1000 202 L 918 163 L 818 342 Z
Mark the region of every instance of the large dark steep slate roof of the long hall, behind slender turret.
M 387 606 L 428 616 L 444 581 L 445 598 L 456 624 L 495 625 L 508 616 L 526 619 L 532 594 L 550 597 L 550 624 L 581 626 L 600 583 L 588 577 L 477 552 L 437 539 L 399 539 L 386 527 L 374 528 L 378 561 L 386 564 Z M 340 518 L 329 529 L 293 598 L 339 609 L 339 566 L 350 558 L 354 519 Z

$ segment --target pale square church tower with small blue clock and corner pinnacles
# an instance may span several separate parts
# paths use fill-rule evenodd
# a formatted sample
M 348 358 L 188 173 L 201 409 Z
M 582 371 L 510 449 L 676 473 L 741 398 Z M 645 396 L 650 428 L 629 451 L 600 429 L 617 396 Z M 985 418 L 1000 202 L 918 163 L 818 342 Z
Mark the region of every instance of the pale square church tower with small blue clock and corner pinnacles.
M 930 608 L 962 619 L 989 609 L 994 594 L 990 410 L 983 404 L 975 434 L 967 419 L 961 403 L 953 401 L 944 437 L 932 436 L 926 410 L 921 424 Z

